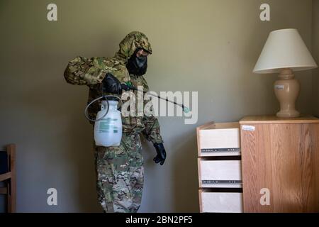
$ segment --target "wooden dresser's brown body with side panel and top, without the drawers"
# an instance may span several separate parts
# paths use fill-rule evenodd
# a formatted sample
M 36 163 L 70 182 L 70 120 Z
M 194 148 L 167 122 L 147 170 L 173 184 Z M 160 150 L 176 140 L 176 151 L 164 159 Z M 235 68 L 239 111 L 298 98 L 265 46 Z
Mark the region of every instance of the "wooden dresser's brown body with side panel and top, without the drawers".
M 245 212 L 319 212 L 318 118 L 245 117 L 240 137 Z

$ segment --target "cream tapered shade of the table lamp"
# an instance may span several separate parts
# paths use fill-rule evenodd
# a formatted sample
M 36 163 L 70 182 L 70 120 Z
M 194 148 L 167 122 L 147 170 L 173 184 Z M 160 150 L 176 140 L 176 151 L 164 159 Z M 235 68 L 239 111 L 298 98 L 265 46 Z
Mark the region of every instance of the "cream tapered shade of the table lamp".
M 318 67 L 296 29 L 281 29 L 269 34 L 266 44 L 254 67 L 255 73 L 279 73 L 311 70 Z

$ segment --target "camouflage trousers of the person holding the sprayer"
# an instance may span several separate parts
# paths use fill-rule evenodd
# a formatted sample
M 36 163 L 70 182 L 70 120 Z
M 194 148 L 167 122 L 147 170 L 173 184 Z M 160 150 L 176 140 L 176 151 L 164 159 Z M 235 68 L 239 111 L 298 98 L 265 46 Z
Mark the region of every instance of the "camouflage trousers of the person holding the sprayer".
M 144 182 L 140 135 L 123 133 L 119 147 L 96 146 L 95 164 L 97 192 L 103 210 L 137 212 Z

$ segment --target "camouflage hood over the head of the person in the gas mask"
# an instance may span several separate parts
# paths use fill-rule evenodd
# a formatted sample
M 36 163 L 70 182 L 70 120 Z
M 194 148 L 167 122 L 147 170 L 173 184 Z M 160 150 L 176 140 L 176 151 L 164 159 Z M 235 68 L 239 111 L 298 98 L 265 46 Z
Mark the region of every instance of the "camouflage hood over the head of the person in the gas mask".
M 120 50 L 116 52 L 115 57 L 118 60 L 128 62 L 130 56 L 133 55 L 136 49 L 143 48 L 152 54 L 152 48 L 145 34 L 139 31 L 133 31 L 125 36 L 120 43 Z

